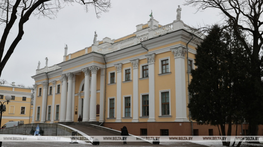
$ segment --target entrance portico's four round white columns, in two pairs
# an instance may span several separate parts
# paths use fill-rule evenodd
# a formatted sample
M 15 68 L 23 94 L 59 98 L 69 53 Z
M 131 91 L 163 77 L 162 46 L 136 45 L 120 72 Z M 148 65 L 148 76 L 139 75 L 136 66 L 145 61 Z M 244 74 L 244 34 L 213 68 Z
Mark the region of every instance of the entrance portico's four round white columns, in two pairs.
M 82 72 L 85 73 L 85 83 L 84 83 L 84 101 L 83 101 L 83 121 L 97 121 L 96 119 L 96 93 L 97 93 L 97 71 L 98 66 L 91 66 L 83 68 Z M 91 76 L 91 92 L 90 92 L 90 73 Z M 60 101 L 60 122 L 72 122 L 72 113 L 74 111 L 74 97 L 72 94 L 75 92 L 73 87 L 73 80 L 75 79 L 74 73 L 66 73 L 61 75 L 61 101 Z M 90 99 L 91 94 L 91 99 Z M 79 106 L 80 107 L 80 106 Z

